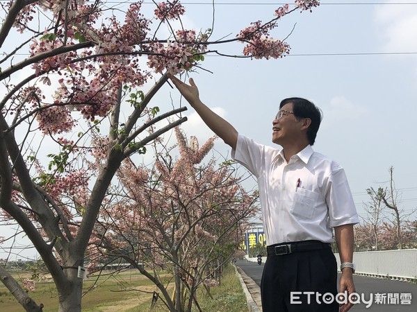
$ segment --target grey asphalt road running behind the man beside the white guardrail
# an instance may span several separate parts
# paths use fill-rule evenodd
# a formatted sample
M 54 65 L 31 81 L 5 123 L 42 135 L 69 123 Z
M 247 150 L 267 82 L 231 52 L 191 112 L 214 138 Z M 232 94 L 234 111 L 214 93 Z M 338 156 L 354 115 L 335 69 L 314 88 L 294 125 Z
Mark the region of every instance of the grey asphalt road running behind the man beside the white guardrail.
M 240 268 L 242 268 L 256 284 L 261 284 L 263 263 L 259 266 L 256 262 L 238 260 L 235 264 L 236 266 L 240 266 Z M 405 281 L 391 281 L 388 279 L 363 277 L 359 275 L 354 275 L 354 284 L 357 293 L 363 297 L 364 300 L 354 304 L 350 311 L 417 311 L 417 284 L 411 284 Z M 389 299 L 389 297 L 391 299 Z M 406 304 L 408 302 L 410 302 L 410 304 Z M 366 306 L 368 306 L 368 308 Z

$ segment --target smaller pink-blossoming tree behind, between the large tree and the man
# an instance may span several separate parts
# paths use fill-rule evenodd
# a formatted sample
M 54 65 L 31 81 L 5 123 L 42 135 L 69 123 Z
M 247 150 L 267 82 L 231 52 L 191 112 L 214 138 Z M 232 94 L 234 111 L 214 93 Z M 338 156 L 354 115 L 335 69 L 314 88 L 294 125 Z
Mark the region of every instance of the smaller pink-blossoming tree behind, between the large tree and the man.
M 176 128 L 179 158 L 156 153 L 151 168 L 124 162 L 120 191 L 101 209 L 90 244 L 90 263 L 130 263 L 162 293 L 170 311 L 198 308 L 199 286 L 218 284 L 224 263 L 241 243 L 245 220 L 259 212 L 257 192 L 240 186 L 233 163 L 212 158 L 213 138 L 199 147 Z M 110 198 L 110 196 L 108 196 Z M 98 267 L 96 264 L 96 267 Z M 159 272 L 172 272 L 172 283 Z M 160 300 L 160 301 L 161 301 Z

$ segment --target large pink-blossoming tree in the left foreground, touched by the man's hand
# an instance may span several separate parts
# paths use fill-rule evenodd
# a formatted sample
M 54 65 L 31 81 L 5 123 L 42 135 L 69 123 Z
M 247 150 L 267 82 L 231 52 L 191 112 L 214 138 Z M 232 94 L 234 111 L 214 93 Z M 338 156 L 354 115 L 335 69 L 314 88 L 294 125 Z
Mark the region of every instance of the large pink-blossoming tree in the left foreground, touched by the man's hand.
M 138 1 L 122 18 L 101 0 L 0 4 L 1 222 L 13 220 L 31 240 L 56 284 L 59 311 L 81 311 L 78 270 L 121 164 L 186 121 L 178 117 L 185 107 L 158 114 L 149 105 L 167 73 L 193 69 L 207 53 L 222 55 L 218 47 L 229 42 L 243 42 L 246 57 L 281 58 L 290 48 L 270 31 L 285 15 L 318 1 L 281 6 L 270 21 L 223 41 L 211 41 L 210 29 L 173 26 L 161 40 L 159 26 L 181 20 L 185 8 L 179 1 L 154 4 L 154 16 L 145 17 Z M 142 92 L 152 79 L 156 83 Z M 169 123 L 147 134 L 163 120 Z M 44 150 L 50 151 L 46 161 Z M 97 155 L 104 161 L 92 171 Z M 0 278 L 26 311 L 42 310 L 1 268 Z

